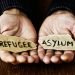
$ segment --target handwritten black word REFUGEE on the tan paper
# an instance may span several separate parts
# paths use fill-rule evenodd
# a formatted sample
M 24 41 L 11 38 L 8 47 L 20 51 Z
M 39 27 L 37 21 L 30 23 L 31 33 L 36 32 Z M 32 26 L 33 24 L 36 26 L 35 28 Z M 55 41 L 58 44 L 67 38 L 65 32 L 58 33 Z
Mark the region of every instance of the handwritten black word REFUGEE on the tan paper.
M 31 42 L 14 42 L 14 41 L 0 41 L 0 47 L 32 48 Z

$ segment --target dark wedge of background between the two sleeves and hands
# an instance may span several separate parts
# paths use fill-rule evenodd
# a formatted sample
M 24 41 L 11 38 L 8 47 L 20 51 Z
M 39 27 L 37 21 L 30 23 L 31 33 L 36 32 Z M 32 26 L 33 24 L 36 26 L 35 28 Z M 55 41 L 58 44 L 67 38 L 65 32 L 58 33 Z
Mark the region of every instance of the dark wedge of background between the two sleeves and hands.
M 52 3 L 52 0 L 32 0 L 31 6 L 33 11 L 33 24 L 37 30 L 39 31 L 39 28 L 46 18 L 46 15 L 48 14 L 48 8 L 50 4 Z

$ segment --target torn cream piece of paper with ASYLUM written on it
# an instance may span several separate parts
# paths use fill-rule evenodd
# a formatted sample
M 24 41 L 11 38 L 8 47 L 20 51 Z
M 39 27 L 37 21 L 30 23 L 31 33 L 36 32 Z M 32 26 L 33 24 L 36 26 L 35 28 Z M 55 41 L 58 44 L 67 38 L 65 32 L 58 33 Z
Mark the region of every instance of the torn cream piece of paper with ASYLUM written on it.
M 44 49 L 75 50 L 75 41 L 69 34 L 40 37 L 38 42 Z

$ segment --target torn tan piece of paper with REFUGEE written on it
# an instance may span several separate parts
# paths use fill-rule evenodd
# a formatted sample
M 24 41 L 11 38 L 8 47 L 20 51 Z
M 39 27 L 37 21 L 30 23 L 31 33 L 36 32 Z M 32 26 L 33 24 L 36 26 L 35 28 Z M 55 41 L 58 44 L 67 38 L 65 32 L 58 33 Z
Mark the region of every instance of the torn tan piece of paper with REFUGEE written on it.
M 0 35 L 0 50 L 17 53 L 34 49 L 36 49 L 36 44 L 30 40 L 16 36 Z

